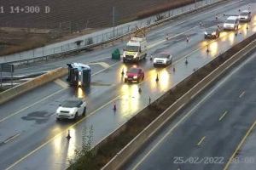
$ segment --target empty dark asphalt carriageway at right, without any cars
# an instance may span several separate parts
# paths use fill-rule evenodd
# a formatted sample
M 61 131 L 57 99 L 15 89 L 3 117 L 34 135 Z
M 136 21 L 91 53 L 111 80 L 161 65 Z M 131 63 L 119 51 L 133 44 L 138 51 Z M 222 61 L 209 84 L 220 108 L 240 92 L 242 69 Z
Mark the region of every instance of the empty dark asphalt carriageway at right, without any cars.
M 124 169 L 228 167 L 228 160 L 256 123 L 255 64 L 256 53 L 191 101 Z M 236 159 L 231 162 L 236 164 Z

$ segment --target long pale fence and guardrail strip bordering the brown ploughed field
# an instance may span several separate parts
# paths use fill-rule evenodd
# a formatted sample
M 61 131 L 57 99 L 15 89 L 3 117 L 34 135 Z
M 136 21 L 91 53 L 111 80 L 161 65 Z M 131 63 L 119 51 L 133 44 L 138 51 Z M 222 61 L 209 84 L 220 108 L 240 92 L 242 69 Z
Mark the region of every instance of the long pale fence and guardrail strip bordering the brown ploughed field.
M 224 0 L 202 0 L 198 1 L 181 8 L 175 8 L 164 13 L 156 14 L 154 16 L 148 17 L 143 20 L 134 21 L 122 26 L 116 26 L 115 28 L 108 29 L 107 32 L 98 33 L 93 37 L 87 37 L 80 39 L 75 42 L 69 42 L 55 48 L 36 48 L 26 52 L 21 52 L 19 54 L 13 54 L 8 56 L 3 56 L 0 58 L 4 59 L 3 63 L 9 63 L 13 65 L 23 65 L 29 64 L 35 61 L 48 60 L 62 55 L 71 54 L 73 52 L 79 52 L 82 50 L 94 48 L 106 44 L 108 42 L 113 42 L 120 38 L 131 35 L 136 31 L 136 28 L 149 28 L 152 26 L 159 25 L 166 20 L 171 20 L 181 14 L 187 14 L 189 12 L 195 11 L 200 8 L 207 7 L 214 3 L 222 2 Z M 110 31 L 112 30 L 112 31 Z M 15 59 L 11 59 L 15 58 Z

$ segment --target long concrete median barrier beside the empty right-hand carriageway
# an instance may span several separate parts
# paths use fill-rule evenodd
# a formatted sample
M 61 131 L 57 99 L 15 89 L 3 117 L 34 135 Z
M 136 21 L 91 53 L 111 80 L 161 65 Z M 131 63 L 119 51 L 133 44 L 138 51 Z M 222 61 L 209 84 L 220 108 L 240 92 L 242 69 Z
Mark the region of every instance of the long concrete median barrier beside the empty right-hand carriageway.
M 215 82 L 219 77 L 224 75 L 235 65 L 238 65 L 243 59 L 249 54 L 252 54 L 256 48 L 255 35 L 249 37 L 249 41 L 253 39 L 254 41 L 249 43 L 245 48 L 242 48 L 239 52 L 234 54 L 230 59 L 226 60 L 222 65 L 219 65 L 217 69 L 212 71 L 207 77 L 198 82 L 193 88 L 191 88 L 186 94 L 181 98 L 177 99 L 170 107 L 166 109 L 160 116 L 158 116 L 153 122 L 151 122 L 148 127 L 143 129 L 141 133 L 137 135 L 135 139 L 132 139 L 129 144 L 125 146 L 119 153 L 113 157 L 111 161 L 108 162 L 102 169 L 113 170 L 119 169 L 126 161 L 128 161 L 132 155 L 134 155 L 138 149 L 140 149 L 145 142 L 151 138 L 157 131 L 170 121 L 170 119 L 176 115 L 177 111 L 183 108 L 184 105 L 188 104 L 189 101 L 204 89 L 206 89 L 212 82 Z M 236 48 L 241 48 L 241 43 L 236 45 Z M 189 80 L 189 79 L 188 79 Z

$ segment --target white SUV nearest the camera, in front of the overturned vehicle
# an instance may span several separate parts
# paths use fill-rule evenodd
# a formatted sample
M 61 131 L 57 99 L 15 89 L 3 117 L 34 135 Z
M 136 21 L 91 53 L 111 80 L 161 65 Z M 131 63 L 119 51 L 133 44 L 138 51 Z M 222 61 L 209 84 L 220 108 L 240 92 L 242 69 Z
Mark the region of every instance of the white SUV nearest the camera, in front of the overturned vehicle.
M 86 102 L 84 99 L 65 100 L 56 111 L 56 120 L 77 119 L 79 116 L 85 116 Z

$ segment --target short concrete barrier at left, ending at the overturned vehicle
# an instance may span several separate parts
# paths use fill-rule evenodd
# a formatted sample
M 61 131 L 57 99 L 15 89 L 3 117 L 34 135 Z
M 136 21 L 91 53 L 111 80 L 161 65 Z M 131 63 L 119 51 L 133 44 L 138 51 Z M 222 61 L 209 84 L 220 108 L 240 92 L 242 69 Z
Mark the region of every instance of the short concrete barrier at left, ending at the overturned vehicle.
M 3 91 L 0 94 L 0 105 L 9 101 L 10 99 L 14 99 L 20 94 L 24 94 L 33 88 L 38 88 L 47 82 L 51 82 L 56 78 L 63 77 L 65 75 L 67 75 L 67 68 L 58 68 L 53 71 L 49 71 L 40 77 L 34 78 L 31 81 L 24 82 L 15 88 L 10 88 L 6 91 Z

